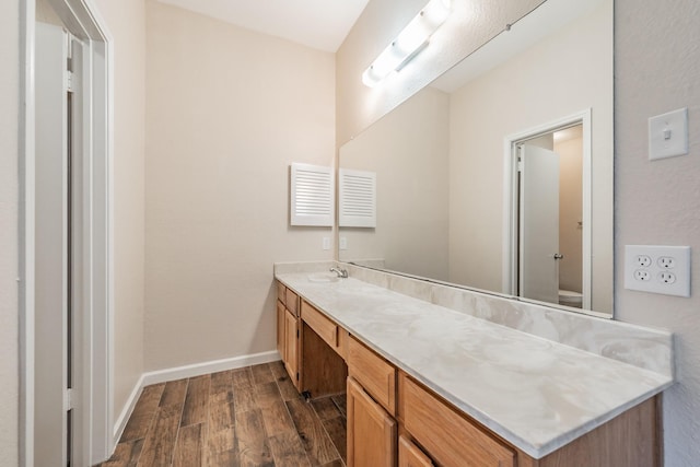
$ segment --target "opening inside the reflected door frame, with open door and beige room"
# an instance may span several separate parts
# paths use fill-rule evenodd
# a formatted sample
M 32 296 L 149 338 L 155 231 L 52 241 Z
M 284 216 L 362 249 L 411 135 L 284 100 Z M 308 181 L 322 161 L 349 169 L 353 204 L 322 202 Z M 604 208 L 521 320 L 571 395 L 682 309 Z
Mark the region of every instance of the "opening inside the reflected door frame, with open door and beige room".
M 583 306 L 583 125 L 517 144 L 518 295 Z

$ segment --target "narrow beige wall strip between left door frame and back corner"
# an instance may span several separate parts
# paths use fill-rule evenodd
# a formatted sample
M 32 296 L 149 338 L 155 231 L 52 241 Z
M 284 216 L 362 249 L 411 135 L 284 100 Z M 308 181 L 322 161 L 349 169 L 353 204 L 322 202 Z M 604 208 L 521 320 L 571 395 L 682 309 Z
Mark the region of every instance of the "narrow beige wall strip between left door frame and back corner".
M 114 42 L 114 407 L 143 373 L 143 0 L 95 0 Z

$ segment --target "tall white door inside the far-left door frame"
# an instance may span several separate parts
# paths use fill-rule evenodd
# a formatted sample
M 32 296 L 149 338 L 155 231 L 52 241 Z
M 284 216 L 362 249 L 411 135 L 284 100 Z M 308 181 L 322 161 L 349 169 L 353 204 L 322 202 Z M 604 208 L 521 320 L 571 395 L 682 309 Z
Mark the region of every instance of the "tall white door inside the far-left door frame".
M 72 362 L 80 329 L 80 166 L 71 164 L 73 142 L 69 91 L 72 40 L 60 27 L 36 23 L 36 152 L 35 152 L 35 417 L 34 463 L 67 466 L 72 462 L 73 435 L 80 419 L 73 410 L 80 377 Z M 78 463 L 79 464 L 79 463 Z

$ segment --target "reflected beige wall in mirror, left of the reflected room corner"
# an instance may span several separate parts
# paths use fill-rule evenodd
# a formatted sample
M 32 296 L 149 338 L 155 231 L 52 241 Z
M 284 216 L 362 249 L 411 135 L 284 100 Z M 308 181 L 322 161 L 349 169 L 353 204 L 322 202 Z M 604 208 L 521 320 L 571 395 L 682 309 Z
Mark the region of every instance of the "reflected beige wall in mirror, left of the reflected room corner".
M 448 280 L 450 97 L 425 87 L 340 149 L 340 166 L 377 174 L 376 229 L 340 227 L 341 260 Z

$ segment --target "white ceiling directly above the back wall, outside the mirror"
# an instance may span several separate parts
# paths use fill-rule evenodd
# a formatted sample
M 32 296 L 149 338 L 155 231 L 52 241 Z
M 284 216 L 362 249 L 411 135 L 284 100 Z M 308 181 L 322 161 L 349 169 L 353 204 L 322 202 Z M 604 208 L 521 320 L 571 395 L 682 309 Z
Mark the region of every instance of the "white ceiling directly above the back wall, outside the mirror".
M 369 0 L 159 0 L 236 26 L 335 52 Z

